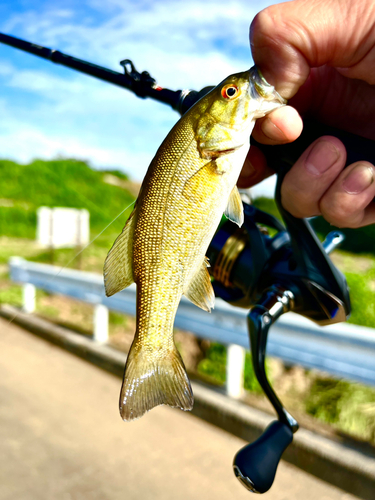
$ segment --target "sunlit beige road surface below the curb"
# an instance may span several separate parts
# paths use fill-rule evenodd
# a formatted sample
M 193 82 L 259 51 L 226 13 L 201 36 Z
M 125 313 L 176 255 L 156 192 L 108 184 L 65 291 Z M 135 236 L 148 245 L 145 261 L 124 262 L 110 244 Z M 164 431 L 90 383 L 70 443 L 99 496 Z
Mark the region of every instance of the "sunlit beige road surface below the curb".
M 179 410 L 118 415 L 119 378 L 0 318 L 0 500 L 241 500 L 245 443 Z M 250 496 L 249 496 L 250 495 Z M 266 500 L 355 500 L 282 462 Z

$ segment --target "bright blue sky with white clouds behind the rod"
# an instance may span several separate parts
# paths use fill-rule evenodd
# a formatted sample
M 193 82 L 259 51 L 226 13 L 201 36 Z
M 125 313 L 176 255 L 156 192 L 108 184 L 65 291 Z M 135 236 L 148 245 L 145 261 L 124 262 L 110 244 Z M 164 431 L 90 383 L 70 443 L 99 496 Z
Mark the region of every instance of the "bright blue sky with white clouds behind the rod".
M 3 0 L 0 32 L 172 90 L 252 65 L 249 25 L 269 0 Z M 169 106 L 0 44 L 0 157 L 81 158 L 141 181 L 178 120 Z M 257 194 L 272 196 L 273 181 Z

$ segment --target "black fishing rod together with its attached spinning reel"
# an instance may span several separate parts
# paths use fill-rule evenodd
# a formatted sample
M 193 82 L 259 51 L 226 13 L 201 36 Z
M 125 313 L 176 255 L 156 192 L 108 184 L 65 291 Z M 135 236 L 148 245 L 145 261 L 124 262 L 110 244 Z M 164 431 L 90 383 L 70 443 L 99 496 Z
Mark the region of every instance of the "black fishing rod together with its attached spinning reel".
M 126 88 L 138 97 L 169 104 L 180 114 L 213 88 L 199 92 L 173 91 L 159 86 L 147 71 L 139 73 L 129 59 L 120 62 L 124 68 L 121 74 L 9 35 L 0 34 L 0 42 Z M 343 235 L 333 231 L 321 243 L 307 219 L 293 217 L 281 204 L 285 174 L 322 135 L 336 136 L 344 143 L 347 165 L 359 160 L 375 164 L 373 141 L 312 120 L 304 120 L 301 136 L 290 144 L 266 146 L 251 138 L 251 144 L 263 152 L 268 165 L 277 172 L 275 200 L 283 222 L 244 203 L 243 226 L 239 229 L 231 221 L 225 222 L 207 251 L 215 295 L 249 309 L 247 322 L 254 372 L 278 417 L 257 441 L 245 446 L 234 458 L 235 475 L 249 491 L 256 493 L 270 489 L 281 456 L 298 430 L 298 422 L 284 408 L 265 372 L 270 327 L 288 311 L 322 326 L 345 321 L 351 311 L 345 277 L 329 258 Z

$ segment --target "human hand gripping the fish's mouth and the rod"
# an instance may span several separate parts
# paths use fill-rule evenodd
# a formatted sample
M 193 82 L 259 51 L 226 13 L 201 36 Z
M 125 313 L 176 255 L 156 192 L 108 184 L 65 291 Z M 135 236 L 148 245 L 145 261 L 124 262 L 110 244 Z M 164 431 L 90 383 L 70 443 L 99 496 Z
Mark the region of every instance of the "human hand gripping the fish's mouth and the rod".
M 255 63 L 294 106 L 258 120 L 253 135 L 265 144 L 295 140 L 302 115 L 375 140 L 375 4 L 372 0 L 294 0 L 260 12 L 251 25 Z M 312 69 L 311 69 L 312 68 Z M 288 172 L 282 203 L 297 217 L 322 214 L 337 226 L 375 222 L 374 166 L 344 171 L 346 152 L 336 138 L 311 145 Z M 272 174 L 251 148 L 240 187 Z

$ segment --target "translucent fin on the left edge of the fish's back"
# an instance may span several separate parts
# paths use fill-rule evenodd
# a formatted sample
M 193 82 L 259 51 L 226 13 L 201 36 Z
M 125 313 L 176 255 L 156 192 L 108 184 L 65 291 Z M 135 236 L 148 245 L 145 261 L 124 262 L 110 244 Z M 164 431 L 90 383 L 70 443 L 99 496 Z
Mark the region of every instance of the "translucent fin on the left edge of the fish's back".
M 126 221 L 104 263 L 104 285 L 107 297 L 131 285 L 133 276 L 133 235 L 137 222 L 136 208 Z

